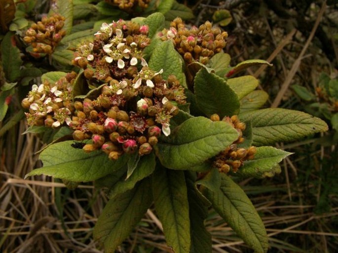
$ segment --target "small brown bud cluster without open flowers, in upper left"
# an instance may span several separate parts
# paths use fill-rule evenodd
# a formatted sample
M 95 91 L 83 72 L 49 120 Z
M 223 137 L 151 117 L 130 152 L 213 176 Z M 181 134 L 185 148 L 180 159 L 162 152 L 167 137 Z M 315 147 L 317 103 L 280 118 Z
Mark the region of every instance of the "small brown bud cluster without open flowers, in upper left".
M 34 53 L 51 55 L 55 47 L 66 35 L 62 30 L 65 25 L 65 18 L 59 14 L 50 17 L 44 16 L 38 23 L 33 23 L 26 32 L 24 41 L 32 44 Z

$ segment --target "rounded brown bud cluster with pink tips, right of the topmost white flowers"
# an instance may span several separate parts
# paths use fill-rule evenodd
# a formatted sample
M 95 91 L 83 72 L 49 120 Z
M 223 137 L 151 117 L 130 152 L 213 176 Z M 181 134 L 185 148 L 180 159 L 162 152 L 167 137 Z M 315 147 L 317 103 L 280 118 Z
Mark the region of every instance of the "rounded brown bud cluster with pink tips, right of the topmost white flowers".
M 183 56 L 186 63 L 199 61 L 207 64 L 210 58 L 225 47 L 227 32 L 212 27 L 207 21 L 199 28 L 186 27 L 181 18 L 174 19 L 170 28 L 160 33 L 163 40 L 172 39 L 176 50 Z

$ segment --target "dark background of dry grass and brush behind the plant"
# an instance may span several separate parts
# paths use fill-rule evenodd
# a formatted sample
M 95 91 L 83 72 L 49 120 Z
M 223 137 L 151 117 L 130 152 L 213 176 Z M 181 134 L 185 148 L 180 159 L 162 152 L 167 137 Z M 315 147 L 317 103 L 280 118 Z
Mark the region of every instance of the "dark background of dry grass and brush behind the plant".
M 272 67 L 248 70 L 269 94 L 265 107 L 306 111 L 330 124 L 327 133 L 279 144 L 295 153 L 284 160 L 281 174 L 240 185 L 262 215 L 269 252 L 335 252 L 338 92 L 326 87 L 331 82 L 338 89 L 338 4 L 311 0 L 181 3 L 192 9 L 194 18 L 189 22 L 193 25 L 206 20 L 221 22 L 229 33 L 226 52 L 232 56 L 231 65 L 247 59 L 273 63 Z M 48 10 L 44 6 L 34 9 L 33 20 Z M 230 16 L 212 20 L 220 9 L 228 10 Z M 230 23 L 222 23 L 226 18 Z M 12 97 L 11 115 L 19 110 L 20 100 Z M 13 120 L 6 117 L 2 126 Z M 69 190 L 44 176 L 23 180 L 40 166 L 36 152 L 41 148 L 37 136 L 22 135 L 25 129 L 25 122 L 20 121 L 0 137 L 0 251 L 100 252 L 92 240 L 92 227 L 107 202 L 104 193 L 90 184 Z M 250 252 L 215 213 L 209 214 L 207 227 L 214 252 Z M 120 252 L 170 252 L 151 210 Z

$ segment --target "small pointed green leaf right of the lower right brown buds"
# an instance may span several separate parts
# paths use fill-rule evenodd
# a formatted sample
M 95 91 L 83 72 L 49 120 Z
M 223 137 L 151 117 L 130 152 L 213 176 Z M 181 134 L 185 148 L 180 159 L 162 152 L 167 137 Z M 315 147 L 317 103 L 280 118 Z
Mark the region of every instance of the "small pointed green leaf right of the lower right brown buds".
M 261 178 L 272 171 L 278 162 L 291 154 L 273 147 L 259 147 L 254 159 L 245 161 L 236 175 Z

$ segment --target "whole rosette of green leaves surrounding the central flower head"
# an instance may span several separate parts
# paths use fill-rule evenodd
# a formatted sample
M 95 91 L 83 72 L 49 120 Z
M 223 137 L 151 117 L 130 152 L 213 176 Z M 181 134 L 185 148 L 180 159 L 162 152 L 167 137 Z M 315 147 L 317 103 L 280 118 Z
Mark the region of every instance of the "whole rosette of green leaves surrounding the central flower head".
M 162 29 L 164 17 L 157 13 L 139 22 L 149 26 L 152 37 Z M 258 80 L 233 76 L 248 66 L 266 64 L 264 61 L 246 61 L 231 67 L 230 56 L 220 52 L 207 65 L 198 61 L 185 65 L 170 39 L 152 39 L 143 54 L 152 71 L 162 70 L 163 79 L 175 75 L 186 88 L 188 103 L 178 105 L 178 114 L 170 119 L 170 135 L 161 135 L 148 155 L 125 153 L 116 160 L 101 150 L 85 153 L 75 149 L 71 146 L 73 141 L 58 142 L 41 152 L 43 167 L 27 176 L 45 174 L 75 182 L 94 181 L 97 188 L 105 188 L 110 200 L 95 225 L 94 238 L 108 253 L 113 253 L 129 236 L 152 203 L 167 244 L 175 253 L 212 252 L 211 236 L 204 226 L 210 206 L 256 253 L 267 252 L 266 231 L 250 199 L 231 174 L 220 173 L 212 163 L 238 140 L 239 132 L 225 121 L 209 118 L 214 114 L 220 118 L 238 115 L 246 123 L 241 145 L 254 145 L 257 150 L 254 158 L 244 161 L 236 172 L 241 177 L 270 176 L 278 162 L 290 155 L 266 145 L 325 131 L 327 125 L 298 111 L 260 109 L 267 95 L 255 90 Z M 89 60 L 85 59 L 90 62 L 90 55 L 81 57 L 89 56 Z M 187 68 L 190 78 L 183 71 Z M 76 95 L 88 97 L 97 88 L 77 82 L 74 90 Z

